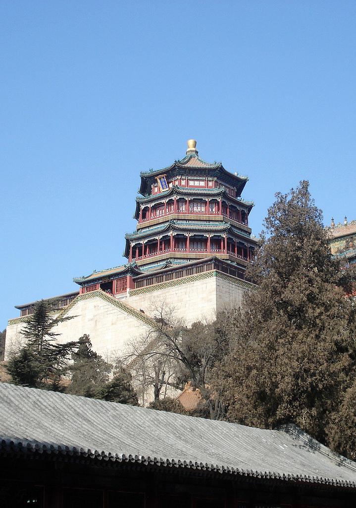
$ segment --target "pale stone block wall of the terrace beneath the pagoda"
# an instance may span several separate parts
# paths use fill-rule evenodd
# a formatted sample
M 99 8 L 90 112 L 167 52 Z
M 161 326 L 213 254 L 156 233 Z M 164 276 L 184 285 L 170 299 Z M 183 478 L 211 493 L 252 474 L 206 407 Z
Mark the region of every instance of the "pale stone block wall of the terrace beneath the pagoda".
M 253 284 L 212 270 L 182 279 L 131 290 L 124 299 L 116 299 L 102 291 L 78 296 L 65 315 L 76 316 L 58 325 L 59 341 L 78 340 L 90 335 L 93 349 L 104 358 L 122 353 L 127 341 L 147 334 L 152 328 L 155 306 L 174 309 L 174 315 L 187 325 L 215 318 L 217 310 L 241 303 L 244 292 Z M 144 311 L 140 312 L 140 309 Z M 6 358 L 22 342 L 25 317 L 9 321 L 6 336 Z

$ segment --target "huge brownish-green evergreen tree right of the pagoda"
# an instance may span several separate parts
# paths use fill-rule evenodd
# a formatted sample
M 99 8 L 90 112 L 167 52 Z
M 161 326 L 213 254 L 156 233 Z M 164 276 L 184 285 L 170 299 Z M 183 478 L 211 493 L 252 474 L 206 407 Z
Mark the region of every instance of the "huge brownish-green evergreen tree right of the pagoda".
M 325 442 L 355 372 L 355 309 L 335 285 L 339 263 L 308 182 L 276 194 L 265 226 L 270 236 L 262 235 L 251 269 L 258 285 L 213 385 L 230 420 L 263 428 L 293 422 Z

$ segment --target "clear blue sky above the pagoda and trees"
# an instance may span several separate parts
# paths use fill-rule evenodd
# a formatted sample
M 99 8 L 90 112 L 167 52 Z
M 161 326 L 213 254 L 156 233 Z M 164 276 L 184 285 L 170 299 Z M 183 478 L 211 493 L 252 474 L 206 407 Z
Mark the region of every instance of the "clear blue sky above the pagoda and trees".
M 189 138 L 250 177 L 255 234 L 304 178 L 326 223 L 356 218 L 355 15 L 347 1 L 3 0 L 0 328 L 14 305 L 125 261 L 139 172 Z

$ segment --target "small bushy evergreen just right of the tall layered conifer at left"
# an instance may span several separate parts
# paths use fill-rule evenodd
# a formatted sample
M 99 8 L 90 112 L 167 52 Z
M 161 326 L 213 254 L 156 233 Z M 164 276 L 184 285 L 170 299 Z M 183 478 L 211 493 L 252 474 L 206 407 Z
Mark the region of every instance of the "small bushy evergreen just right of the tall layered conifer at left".
M 72 373 L 68 393 L 95 397 L 102 386 L 109 381 L 109 374 L 113 366 L 95 353 L 92 349 L 89 336 L 84 336 L 87 341 L 72 353 L 73 363 L 69 370 Z

